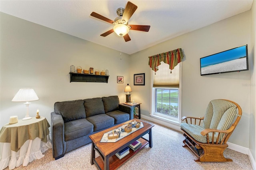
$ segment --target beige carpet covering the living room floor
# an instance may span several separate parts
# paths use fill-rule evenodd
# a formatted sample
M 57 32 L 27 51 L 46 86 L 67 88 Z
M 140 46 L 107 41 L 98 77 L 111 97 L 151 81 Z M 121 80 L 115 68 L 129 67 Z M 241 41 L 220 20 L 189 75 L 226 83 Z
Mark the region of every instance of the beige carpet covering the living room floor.
M 195 162 L 196 156 L 188 148 L 182 147 L 184 136 L 181 132 L 150 123 L 155 125 L 152 128 L 153 147 L 145 146 L 118 170 L 252 170 L 247 155 L 230 149 L 224 151 L 224 156 L 233 162 Z M 58 160 L 52 158 L 52 150 L 44 154 L 44 158 L 14 170 L 97 170 L 95 165 L 90 164 L 91 144 L 68 152 Z

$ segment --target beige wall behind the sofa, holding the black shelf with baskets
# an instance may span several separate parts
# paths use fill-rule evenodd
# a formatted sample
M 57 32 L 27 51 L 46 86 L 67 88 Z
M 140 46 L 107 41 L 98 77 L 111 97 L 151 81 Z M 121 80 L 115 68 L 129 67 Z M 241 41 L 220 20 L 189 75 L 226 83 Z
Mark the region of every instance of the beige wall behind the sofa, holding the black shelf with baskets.
M 39 100 L 30 104 L 30 116 L 50 123 L 54 103 L 118 95 L 124 101 L 129 82 L 129 55 L 1 13 L 0 126 L 12 115 L 25 116 L 23 102 L 11 102 L 20 88 L 34 88 Z M 122 60 L 121 60 L 122 58 Z M 109 71 L 108 83 L 71 82 L 70 66 Z M 116 77 L 124 76 L 124 84 Z

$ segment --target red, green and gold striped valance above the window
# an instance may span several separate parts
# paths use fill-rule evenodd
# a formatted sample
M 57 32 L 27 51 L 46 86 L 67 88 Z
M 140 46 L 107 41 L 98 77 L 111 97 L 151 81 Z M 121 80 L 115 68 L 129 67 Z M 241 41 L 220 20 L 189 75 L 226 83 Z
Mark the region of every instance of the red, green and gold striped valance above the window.
M 163 61 L 166 64 L 169 64 L 169 68 L 172 70 L 179 62 L 182 61 L 183 58 L 183 52 L 181 48 L 178 48 L 177 50 L 172 50 L 168 52 L 164 52 L 161 54 L 156 54 L 154 56 L 148 57 L 148 65 L 154 70 L 155 72 L 158 70 L 158 66 L 161 64 L 161 61 Z

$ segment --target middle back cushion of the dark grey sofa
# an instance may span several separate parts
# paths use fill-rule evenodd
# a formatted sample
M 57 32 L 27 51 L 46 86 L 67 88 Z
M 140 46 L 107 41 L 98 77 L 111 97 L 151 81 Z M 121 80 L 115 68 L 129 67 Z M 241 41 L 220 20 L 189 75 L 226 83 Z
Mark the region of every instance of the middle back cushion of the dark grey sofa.
M 86 118 L 105 113 L 102 98 L 84 99 Z

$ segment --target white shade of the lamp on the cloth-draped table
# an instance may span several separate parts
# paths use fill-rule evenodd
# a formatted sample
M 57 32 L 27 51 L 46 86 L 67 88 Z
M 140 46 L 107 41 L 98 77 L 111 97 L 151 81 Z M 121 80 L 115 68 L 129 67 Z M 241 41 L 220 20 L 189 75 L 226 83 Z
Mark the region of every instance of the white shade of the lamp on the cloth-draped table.
M 39 100 L 33 88 L 20 88 L 12 102 L 29 102 Z

